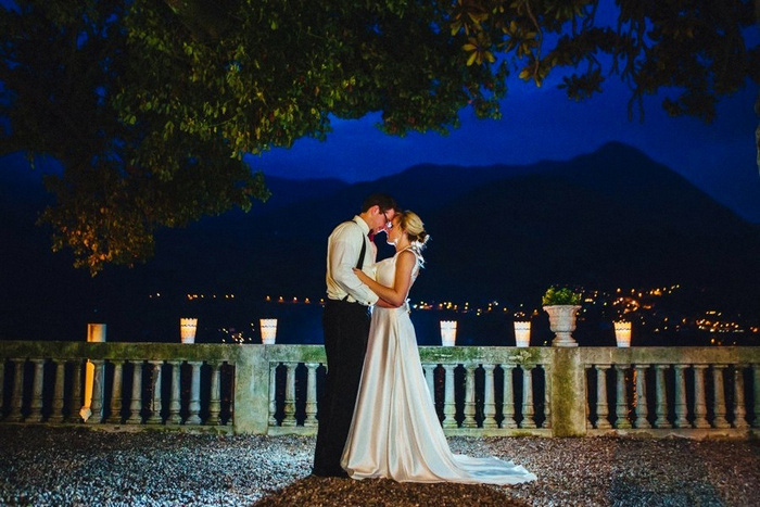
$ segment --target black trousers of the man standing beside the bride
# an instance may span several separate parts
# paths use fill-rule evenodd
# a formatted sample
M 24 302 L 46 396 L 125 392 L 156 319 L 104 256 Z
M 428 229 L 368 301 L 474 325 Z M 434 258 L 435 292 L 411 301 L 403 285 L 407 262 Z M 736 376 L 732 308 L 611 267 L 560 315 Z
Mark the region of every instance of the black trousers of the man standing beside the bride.
M 327 378 L 319 403 L 314 473 L 341 476 L 341 454 L 351 429 L 369 335 L 369 310 L 358 303 L 326 300 L 322 313 Z

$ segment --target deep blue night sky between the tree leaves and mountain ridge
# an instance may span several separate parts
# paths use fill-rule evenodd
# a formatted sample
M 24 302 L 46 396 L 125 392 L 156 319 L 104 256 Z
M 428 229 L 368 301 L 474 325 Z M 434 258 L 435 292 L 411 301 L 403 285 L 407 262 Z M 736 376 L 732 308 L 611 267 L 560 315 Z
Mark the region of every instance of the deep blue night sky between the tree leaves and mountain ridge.
M 747 41 L 760 40 L 757 27 Z M 249 162 L 266 175 L 286 178 L 338 178 L 371 181 L 420 163 L 490 165 L 530 164 L 567 160 L 596 150 L 608 141 L 638 148 L 668 165 L 745 218 L 760 223 L 755 114 L 758 87 L 749 84 L 718 106 L 711 125 L 693 117 L 671 118 L 661 97 L 645 100 L 645 118 L 628 119 L 630 91 L 617 77 L 604 92 L 574 102 L 556 87 L 554 76 L 544 87 L 514 78 L 502 103 L 503 118 L 479 121 L 468 110 L 461 127 L 448 136 L 383 135 L 379 114 L 358 121 L 333 119 L 325 142 L 302 139 L 289 149 L 276 149 Z

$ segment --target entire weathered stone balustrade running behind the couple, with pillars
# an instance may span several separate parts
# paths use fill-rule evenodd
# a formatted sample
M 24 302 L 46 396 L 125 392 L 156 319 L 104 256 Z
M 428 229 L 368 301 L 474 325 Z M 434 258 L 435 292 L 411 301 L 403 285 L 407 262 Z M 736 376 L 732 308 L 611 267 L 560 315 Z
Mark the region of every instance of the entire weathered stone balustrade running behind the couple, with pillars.
M 747 436 L 760 427 L 758 347 L 423 346 L 420 358 L 447 434 Z M 314 434 L 325 372 L 319 345 L 7 341 L 0 417 Z

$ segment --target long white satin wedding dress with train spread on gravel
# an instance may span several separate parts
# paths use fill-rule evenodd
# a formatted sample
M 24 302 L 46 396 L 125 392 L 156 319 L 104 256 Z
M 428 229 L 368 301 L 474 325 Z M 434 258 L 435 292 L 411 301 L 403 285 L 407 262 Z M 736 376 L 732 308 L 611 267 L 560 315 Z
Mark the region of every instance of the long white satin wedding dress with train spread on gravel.
M 400 253 L 377 264 L 378 282 L 393 287 Z M 418 271 L 419 262 L 411 272 L 413 283 Z M 452 454 L 425 381 L 406 305 L 372 309 L 362 383 L 341 466 L 354 479 L 398 482 L 516 484 L 536 479 L 511 461 Z

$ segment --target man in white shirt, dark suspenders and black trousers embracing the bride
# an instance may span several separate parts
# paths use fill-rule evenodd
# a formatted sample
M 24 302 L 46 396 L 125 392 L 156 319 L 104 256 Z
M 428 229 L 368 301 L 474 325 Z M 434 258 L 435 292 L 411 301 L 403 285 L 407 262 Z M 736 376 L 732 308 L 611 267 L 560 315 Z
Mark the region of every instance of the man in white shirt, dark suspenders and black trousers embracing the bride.
M 378 296 L 362 283 L 353 268 L 375 264 L 370 235 L 387 231 L 396 213 L 390 195 L 375 193 L 353 220 L 334 228 L 327 240 L 327 299 L 322 314 L 327 379 L 319 405 L 319 429 L 314 452 L 315 476 L 347 477 L 341 455 L 354 415 L 369 335 L 369 306 Z

